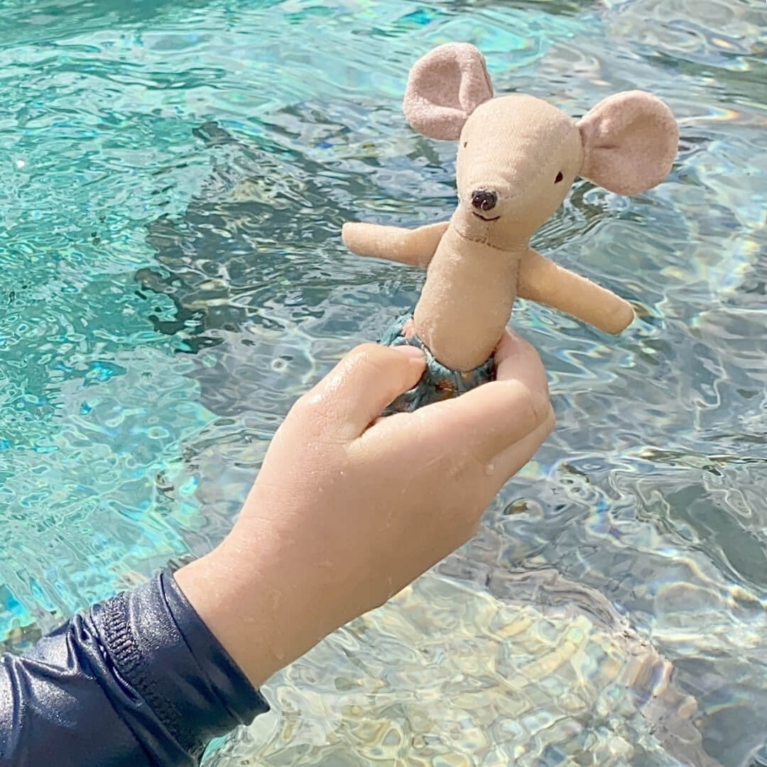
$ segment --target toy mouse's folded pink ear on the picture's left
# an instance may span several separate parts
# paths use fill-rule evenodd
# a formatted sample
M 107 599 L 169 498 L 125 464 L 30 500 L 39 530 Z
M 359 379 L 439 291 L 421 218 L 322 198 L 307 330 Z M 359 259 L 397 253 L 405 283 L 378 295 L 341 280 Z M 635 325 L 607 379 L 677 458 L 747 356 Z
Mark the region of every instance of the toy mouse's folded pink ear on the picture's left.
M 485 57 L 469 43 L 446 43 L 413 65 L 403 112 L 424 136 L 456 140 L 469 115 L 491 98 Z

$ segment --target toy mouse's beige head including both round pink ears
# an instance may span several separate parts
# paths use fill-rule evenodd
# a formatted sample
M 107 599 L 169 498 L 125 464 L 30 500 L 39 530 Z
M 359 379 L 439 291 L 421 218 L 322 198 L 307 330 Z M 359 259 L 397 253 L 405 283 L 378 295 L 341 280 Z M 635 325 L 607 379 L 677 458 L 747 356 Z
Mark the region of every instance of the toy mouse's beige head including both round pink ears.
M 607 97 L 581 120 L 532 96 L 494 98 L 485 58 L 466 43 L 416 62 L 403 110 L 424 136 L 459 142 L 453 222 L 499 248 L 527 242 L 577 176 L 624 195 L 651 189 L 679 143 L 670 109 L 644 91 Z

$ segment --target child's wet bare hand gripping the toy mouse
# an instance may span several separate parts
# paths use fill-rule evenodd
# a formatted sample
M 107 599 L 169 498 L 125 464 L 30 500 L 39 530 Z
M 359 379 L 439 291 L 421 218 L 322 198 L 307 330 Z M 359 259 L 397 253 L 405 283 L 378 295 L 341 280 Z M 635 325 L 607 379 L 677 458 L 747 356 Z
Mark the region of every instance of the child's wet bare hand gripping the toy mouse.
M 498 380 L 377 420 L 424 360 L 365 345 L 295 404 L 232 532 L 176 574 L 255 686 L 465 543 L 551 432 L 532 346 L 495 358 Z

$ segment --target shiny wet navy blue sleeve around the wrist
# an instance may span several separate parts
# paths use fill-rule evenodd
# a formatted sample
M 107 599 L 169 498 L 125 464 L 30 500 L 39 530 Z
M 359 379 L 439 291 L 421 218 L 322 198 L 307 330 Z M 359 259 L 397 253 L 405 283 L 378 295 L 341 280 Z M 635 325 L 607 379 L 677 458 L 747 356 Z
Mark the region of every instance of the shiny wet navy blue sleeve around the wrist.
M 189 767 L 268 709 L 165 572 L 0 658 L 0 767 Z

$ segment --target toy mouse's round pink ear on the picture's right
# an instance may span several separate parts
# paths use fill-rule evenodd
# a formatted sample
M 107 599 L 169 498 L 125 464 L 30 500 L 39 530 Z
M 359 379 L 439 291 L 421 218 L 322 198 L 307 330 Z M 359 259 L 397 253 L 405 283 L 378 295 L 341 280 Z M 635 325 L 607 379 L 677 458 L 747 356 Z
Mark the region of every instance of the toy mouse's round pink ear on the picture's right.
M 671 110 L 644 91 L 601 100 L 578 122 L 583 140 L 581 176 L 618 194 L 652 189 L 671 172 L 679 127 Z

